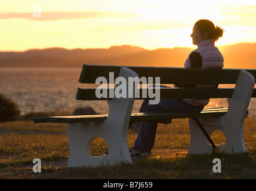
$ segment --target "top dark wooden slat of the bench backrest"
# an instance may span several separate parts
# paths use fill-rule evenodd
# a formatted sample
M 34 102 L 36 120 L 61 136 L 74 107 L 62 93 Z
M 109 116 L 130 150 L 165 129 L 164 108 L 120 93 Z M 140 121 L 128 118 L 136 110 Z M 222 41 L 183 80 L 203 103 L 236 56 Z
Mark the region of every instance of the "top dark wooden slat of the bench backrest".
M 114 72 L 118 77 L 122 66 L 90 65 L 84 64 L 79 82 L 95 84 L 99 76 L 109 81 L 109 72 Z M 139 77 L 146 78 L 161 76 L 161 84 L 236 84 L 239 69 L 195 69 L 184 67 L 150 67 L 150 66 L 125 66 L 133 70 Z M 256 71 L 247 69 L 256 78 Z M 191 76 L 191 78 L 188 78 Z M 197 78 L 193 78 L 197 76 Z M 204 79 L 203 81 L 201 79 Z

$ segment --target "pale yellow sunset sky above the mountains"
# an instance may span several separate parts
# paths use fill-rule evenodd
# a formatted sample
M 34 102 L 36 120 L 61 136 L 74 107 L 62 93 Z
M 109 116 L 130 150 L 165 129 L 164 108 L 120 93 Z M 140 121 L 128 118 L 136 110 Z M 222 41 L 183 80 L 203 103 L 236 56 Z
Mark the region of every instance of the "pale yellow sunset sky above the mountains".
M 256 42 L 255 0 L 11 0 L 1 2 L 0 51 L 194 47 L 199 19 L 225 30 L 216 45 Z

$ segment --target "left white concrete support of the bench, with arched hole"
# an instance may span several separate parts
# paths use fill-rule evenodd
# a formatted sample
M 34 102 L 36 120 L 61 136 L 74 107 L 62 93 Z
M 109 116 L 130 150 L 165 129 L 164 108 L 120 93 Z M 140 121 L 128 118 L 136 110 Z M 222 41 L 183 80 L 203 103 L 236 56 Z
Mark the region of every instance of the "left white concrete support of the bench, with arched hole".
M 128 77 L 138 77 L 137 73 L 122 67 L 119 76 L 124 77 L 128 82 Z M 134 81 L 136 91 L 138 78 Z M 70 146 L 70 158 L 68 167 L 81 167 L 83 165 L 113 165 L 119 162 L 132 163 L 128 144 L 127 131 L 129 119 L 134 104 L 134 96 L 127 98 L 113 98 L 109 101 L 109 116 L 101 123 L 68 124 L 67 134 Z M 136 93 L 136 92 L 135 92 Z M 95 137 L 103 138 L 108 146 L 107 156 L 91 156 L 91 144 Z

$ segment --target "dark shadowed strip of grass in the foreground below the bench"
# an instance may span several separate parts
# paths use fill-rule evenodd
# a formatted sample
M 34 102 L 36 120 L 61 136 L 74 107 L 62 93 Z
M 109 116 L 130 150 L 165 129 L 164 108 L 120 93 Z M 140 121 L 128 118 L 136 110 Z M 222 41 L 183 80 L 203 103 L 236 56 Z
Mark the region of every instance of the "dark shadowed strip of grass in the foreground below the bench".
M 134 161 L 100 167 L 46 168 L 40 178 L 100 178 L 100 179 L 253 179 L 256 178 L 256 150 L 230 155 L 213 152 L 210 155 L 185 155 L 174 158 L 150 156 Z M 221 172 L 213 172 L 213 159 L 221 160 Z

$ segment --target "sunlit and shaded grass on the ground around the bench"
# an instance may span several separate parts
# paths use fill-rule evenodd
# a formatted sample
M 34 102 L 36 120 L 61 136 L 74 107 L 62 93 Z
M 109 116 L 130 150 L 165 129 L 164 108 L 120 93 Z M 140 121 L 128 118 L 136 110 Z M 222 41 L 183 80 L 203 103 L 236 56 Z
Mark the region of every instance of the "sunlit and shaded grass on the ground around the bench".
M 210 155 L 186 155 L 189 146 L 188 119 L 175 119 L 172 124 L 158 127 L 152 156 L 137 159 L 133 164 L 113 167 L 58 166 L 69 156 L 66 124 L 34 124 L 32 121 L 0 123 L 0 178 L 150 178 L 150 179 L 236 179 L 256 178 L 256 119 L 246 118 L 244 138 L 247 153 L 228 155 L 213 152 Z M 128 131 L 128 146 L 137 133 Z M 216 144 L 225 143 L 220 131 L 211 135 Z M 96 138 L 92 155 L 103 155 L 107 145 Z M 174 153 L 173 153 L 174 151 Z M 32 171 L 33 159 L 43 162 L 41 173 Z M 221 159 L 221 173 L 214 173 L 213 159 Z

